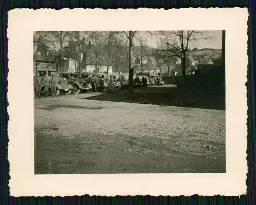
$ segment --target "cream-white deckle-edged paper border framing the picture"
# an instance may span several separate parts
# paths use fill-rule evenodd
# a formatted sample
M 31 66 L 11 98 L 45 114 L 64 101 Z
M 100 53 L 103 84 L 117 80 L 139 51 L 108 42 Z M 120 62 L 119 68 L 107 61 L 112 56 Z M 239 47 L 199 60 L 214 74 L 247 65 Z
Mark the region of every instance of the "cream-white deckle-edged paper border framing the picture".
M 14 9 L 8 15 L 11 196 L 246 194 L 246 8 Z M 226 30 L 226 173 L 35 175 L 33 32 L 61 30 Z

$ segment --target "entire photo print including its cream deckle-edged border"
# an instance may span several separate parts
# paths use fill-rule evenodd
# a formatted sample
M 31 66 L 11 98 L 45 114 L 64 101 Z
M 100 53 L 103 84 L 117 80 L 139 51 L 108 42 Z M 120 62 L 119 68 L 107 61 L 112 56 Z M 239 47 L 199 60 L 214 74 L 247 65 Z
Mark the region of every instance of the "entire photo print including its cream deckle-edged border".
M 10 194 L 246 194 L 247 20 L 241 8 L 9 11 Z

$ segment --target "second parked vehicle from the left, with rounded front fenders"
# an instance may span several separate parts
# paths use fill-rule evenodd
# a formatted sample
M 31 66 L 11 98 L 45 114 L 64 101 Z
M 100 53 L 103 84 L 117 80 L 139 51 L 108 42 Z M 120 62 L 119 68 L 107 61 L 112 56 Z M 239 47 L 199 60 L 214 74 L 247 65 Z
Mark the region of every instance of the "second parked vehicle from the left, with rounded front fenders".
M 66 78 L 73 86 L 74 94 L 80 92 L 85 93 L 92 89 L 92 85 L 89 78 L 95 77 L 95 74 L 88 73 L 61 73 L 62 78 Z

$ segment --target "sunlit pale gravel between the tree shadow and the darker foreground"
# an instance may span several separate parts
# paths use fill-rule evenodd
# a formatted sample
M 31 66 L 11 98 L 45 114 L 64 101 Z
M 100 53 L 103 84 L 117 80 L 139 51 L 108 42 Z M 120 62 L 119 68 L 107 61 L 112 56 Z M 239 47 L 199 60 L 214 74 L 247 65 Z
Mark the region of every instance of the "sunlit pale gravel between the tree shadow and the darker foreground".
M 217 163 L 216 166 L 222 167 L 220 172 L 225 172 L 225 111 L 82 99 L 85 96 L 90 94 L 35 100 L 36 141 L 42 133 L 60 143 L 61 139 L 74 140 L 79 137 L 79 142 L 97 144 L 104 143 L 106 138 L 108 149 L 115 155 L 118 140 L 120 146 L 125 147 L 122 140 L 130 138 L 136 139 L 133 142 L 136 147 L 127 145 L 124 148 L 126 152 L 138 155 L 161 155 L 164 152 L 165 157 L 179 152 L 179 161 L 189 155 L 206 160 L 219 159 L 222 164 Z M 86 133 L 91 133 L 91 136 Z M 100 137 L 96 138 L 96 135 Z M 92 138 L 97 139 L 97 143 Z M 145 149 L 148 144 L 158 148 Z M 42 161 L 48 157 L 44 149 L 51 145 L 40 146 L 37 145 L 36 151 L 38 159 Z M 140 152 L 142 148 L 143 152 Z M 143 157 L 141 159 L 143 160 Z M 211 165 L 213 167 L 207 167 L 207 171 L 218 172 L 219 169 L 215 169 L 214 164 Z M 200 166 L 198 167 L 200 169 Z M 115 168 L 109 170 L 113 171 Z M 45 171 L 51 172 L 49 169 Z M 126 171 L 126 168 L 123 171 Z M 193 168 L 190 171 L 200 172 Z

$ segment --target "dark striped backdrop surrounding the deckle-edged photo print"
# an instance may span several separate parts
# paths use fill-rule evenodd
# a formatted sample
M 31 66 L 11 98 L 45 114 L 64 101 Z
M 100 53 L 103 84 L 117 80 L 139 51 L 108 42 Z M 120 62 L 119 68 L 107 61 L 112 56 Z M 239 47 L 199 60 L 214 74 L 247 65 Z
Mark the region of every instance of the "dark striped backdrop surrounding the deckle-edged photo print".
M 243 2 L 244 3 L 244 2 Z M 105 4 L 106 5 L 106 4 Z M 192 5 L 192 4 L 191 4 Z M 10 5 L 8 5 L 9 6 L 9 8 L 14 8 L 13 6 L 11 6 L 10 7 Z M 16 6 L 16 5 L 15 5 Z M 34 9 L 36 9 L 36 8 L 40 8 L 40 7 L 38 7 L 39 5 L 24 5 L 25 7 L 29 7 L 29 8 L 34 8 Z M 41 5 L 40 5 L 41 7 L 45 7 L 45 6 L 47 6 L 47 8 L 50 8 L 50 6 L 49 5 L 45 5 L 44 3 L 41 3 Z M 55 7 L 56 9 L 60 9 L 61 8 L 61 5 L 51 5 L 51 6 L 53 6 L 53 7 Z M 68 7 L 68 6 L 70 6 L 70 5 L 68 5 L 68 4 L 66 4 L 66 5 L 63 5 L 63 7 Z M 77 6 L 80 6 L 80 5 L 77 5 Z M 109 5 L 109 6 L 111 6 L 111 5 Z M 143 5 L 141 5 L 142 7 L 143 7 Z M 141 7 L 141 6 L 137 6 L 137 8 L 138 7 Z M 157 6 L 157 7 L 164 7 L 165 9 L 167 9 L 168 8 L 168 6 L 166 5 L 166 4 L 164 4 L 164 3 L 160 3 L 160 2 L 158 2 L 158 3 L 156 3 L 155 5 L 152 5 L 152 6 Z M 181 4 L 178 4 L 178 5 L 174 5 L 174 8 L 180 8 L 180 7 L 183 7 L 183 6 L 188 6 L 188 5 L 181 5 Z M 192 5 L 193 6 L 193 5 Z M 197 5 L 198 7 L 200 6 L 200 5 Z M 209 5 L 201 5 L 201 6 L 206 6 L 206 7 L 209 7 Z M 223 3 L 221 3 L 221 4 L 219 4 L 219 5 L 214 5 L 214 7 L 223 7 L 223 6 L 239 6 L 239 7 L 244 7 L 244 6 L 247 6 L 247 4 L 244 4 L 244 5 L 237 5 L 237 4 L 229 4 L 229 3 L 226 3 L 226 4 L 223 4 Z M 250 20 L 248 21 L 248 23 L 249 24 L 251 24 L 251 25 L 253 25 L 253 22 L 255 21 L 255 13 L 253 12 L 253 7 L 252 6 L 254 6 L 255 7 L 255 5 L 253 5 L 253 4 L 251 4 L 251 6 L 249 7 L 249 13 L 250 13 Z M 72 5 L 71 6 L 71 8 L 74 8 L 75 7 L 75 5 Z M 94 7 L 97 7 L 97 5 L 95 5 Z M 93 7 L 93 8 L 94 8 Z M 105 8 L 106 6 L 102 6 L 103 8 Z M 108 6 L 107 6 L 108 7 Z M 127 4 L 126 5 L 120 5 L 120 7 L 127 7 Z M 136 7 L 136 6 L 135 6 Z M 148 7 L 148 5 L 147 5 L 147 7 Z M 166 8 L 167 7 L 167 8 Z M 116 8 L 116 6 L 115 7 L 113 7 L 112 6 L 112 8 Z M 196 7 L 194 7 L 194 8 L 196 8 Z M 254 8 L 255 9 L 255 8 Z M 4 15 L 2 15 L 2 16 L 6 16 L 6 14 Z M 4 18 L 3 18 L 4 19 Z M 251 21 L 251 22 L 250 22 Z M 3 27 L 2 27 L 3 28 Z M 252 27 L 250 27 L 250 28 L 248 28 L 248 37 L 249 37 L 249 39 L 251 39 L 251 38 L 253 38 L 253 36 L 255 36 L 255 28 L 254 28 L 254 30 L 252 29 Z M 3 32 L 1 32 L 1 34 L 4 34 L 4 37 L 6 37 L 6 33 L 3 31 Z M 2 39 L 3 39 L 3 36 L 2 36 Z M 108 202 L 109 203 L 114 203 L 114 202 L 121 202 L 121 201 L 128 201 L 129 199 L 130 200 L 136 200 L 137 199 L 137 202 L 139 203 L 139 202 L 142 202 L 142 201 L 145 201 L 146 203 L 148 202 L 148 203 L 150 203 L 150 202 L 155 202 L 155 203 L 160 203 L 160 204 L 166 204 L 166 203 L 178 203 L 178 204 L 181 204 L 181 203 L 183 203 L 184 204 L 184 202 L 186 201 L 186 203 L 195 203 L 195 201 L 197 201 L 198 203 L 200 203 L 200 202 L 206 202 L 206 201 L 208 201 L 208 204 L 219 204 L 219 203 L 223 203 L 224 201 L 226 202 L 226 204 L 234 204 L 234 203 L 236 203 L 236 204 L 243 204 L 243 203 L 245 203 L 245 204 L 252 204 L 252 201 L 253 201 L 253 195 L 252 195 L 252 190 L 253 190 L 253 185 L 251 184 L 251 183 L 253 183 L 253 181 L 254 181 L 254 175 L 253 175 L 253 173 L 255 173 L 255 167 L 253 166 L 253 163 L 254 163 L 254 161 L 255 161 L 255 159 L 254 159 L 254 156 L 253 156 L 253 148 L 254 148 L 254 141 L 253 141 L 253 136 L 255 135 L 255 132 L 253 131 L 253 130 L 255 130 L 255 125 L 253 124 L 253 119 L 255 118 L 255 114 L 253 113 L 253 110 L 255 110 L 254 108 L 255 108 L 255 105 L 254 105 L 254 99 L 253 99 L 253 93 L 250 93 L 250 92 L 252 92 L 252 88 L 253 88 L 253 76 L 252 76 L 252 74 L 253 74 L 253 67 L 255 67 L 255 64 L 253 64 L 253 61 L 252 61 L 252 57 L 255 57 L 255 53 L 252 53 L 253 51 L 255 51 L 255 45 L 254 45 L 254 47 L 253 47 L 253 42 L 255 41 L 255 39 L 252 39 L 251 41 L 249 41 L 248 40 L 248 47 L 249 47 L 249 49 L 248 49 L 248 56 L 249 56 L 249 64 L 248 64 L 248 75 L 247 75 L 247 79 L 248 79 L 248 83 L 247 83 L 247 88 L 248 88 L 248 90 L 247 90 L 247 97 L 248 97 L 248 121 L 247 121 L 247 125 L 249 126 L 248 127 L 248 137 L 247 137 L 247 140 L 248 140 L 248 143 L 247 143 L 247 145 L 249 145 L 249 143 L 251 143 L 251 146 L 249 147 L 247 147 L 247 154 L 248 154 L 248 165 L 249 165 L 249 169 L 248 169 L 248 178 L 247 178 L 247 196 L 246 195 L 243 195 L 243 196 L 240 196 L 240 197 L 221 197 L 221 196 L 215 196 L 215 198 L 209 198 L 209 197 L 195 197 L 195 196 L 191 196 L 191 197 L 188 197 L 188 198 L 190 198 L 191 200 L 189 200 L 187 197 L 187 200 L 185 200 L 185 198 L 184 197 L 180 197 L 180 198 L 177 198 L 177 197 L 172 197 L 172 198 L 170 198 L 170 197 L 150 197 L 150 196 L 136 196 L 136 197 L 129 197 L 129 196 L 127 196 L 127 197 L 120 197 L 120 196 L 116 196 L 115 198 L 113 198 L 113 197 L 109 197 L 108 198 Z M 6 45 L 6 42 L 7 42 L 7 39 L 4 39 L 4 43 L 2 43 L 2 44 L 4 44 L 4 45 Z M 2 45 L 1 44 L 1 45 Z M 4 46 L 2 46 L 1 48 L 4 48 Z M 5 49 L 2 49 L 3 50 L 3 53 L 5 54 L 5 59 L 7 59 L 7 52 L 5 52 L 7 49 L 5 48 Z M 3 56 L 3 55 L 2 55 Z M 2 79 L 4 79 L 3 80 L 3 82 L 2 82 L 2 85 L 3 85 L 3 87 L 5 87 L 6 85 L 7 85 L 7 82 L 5 81 L 5 79 L 6 79 L 6 77 L 7 77 L 7 72 L 8 72 L 8 69 L 7 69 L 7 62 L 5 61 L 5 59 L 3 59 L 2 60 L 2 62 L 1 62 L 1 64 L 2 64 L 2 67 L 4 68 L 4 70 L 3 71 L 5 71 L 5 72 L 3 72 L 3 77 L 5 77 L 5 78 L 1 78 L 1 80 Z M 2 94 L 2 93 L 1 93 Z M 1 115 L 2 114 L 4 114 L 4 115 L 2 115 L 3 116 L 3 118 L 1 118 L 1 126 L 3 126 L 4 125 L 4 127 L 2 127 L 1 128 L 1 135 L 2 136 L 4 136 L 4 138 L 2 138 L 3 140 L 2 141 L 0 141 L 1 142 L 1 149 L 3 148 L 3 150 L 4 149 L 6 149 L 6 147 L 7 147 L 7 142 L 6 142 L 6 140 L 7 140 L 7 135 L 6 135 L 6 122 L 7 122 L 7 120 L 8 120 L 8 117 L 7 117 L 7 112 L 6 112 L 6 106 L 7 106 L 7 101 L 6 101 L 6 93 L 4 93 L 3 92 L 3 97 L 4 97 L 4 99 L 3 99 L 3 101 L 1 101 L 1 102 L 4 102 L 3 103 L 3 106 L 2 106 L 2 104 L 1 104 L 1 109 L 2 108 L 5 108 L 5 109 L 2 109 L 3 110 L 3 112 L 1 112 Z M 2 96 L 1 96 L 2 97 Z M 249 98 L 250 97 L 250 98 Z M 251 103 L 251 104 L 250 104 Z M 2 111 L 1 110 L 1 111 Z M 249 112 L 251 111 L 251 115 L 254 115 L 254 116 L 251 116 L 251 115 L 249 115 Z M 253 118 L 254 117 L 254 118 Z M 3 121 L 3 120 L 5 120 L 6 119 L 6 122 L 5 121 Z M 4 130 L 5 129 L 5 130 Z M 253 135 L 254 134 L 254 135 Z M 4 148 L 4 145 L 6 145 L 5 146 L 5 148 Z M 3 151 L 2 151 L 2 154 L 4 154 L 3 156 L 2 156 L 2 162 L 6 162 L 7 163 L 7 161 L 6 161 L 6 156 L 5 156 L 5 153 L 3 153 Z M 2 164 L 1 164 L 2 165 Z M 0 166 L 1 166 L 0 165 Z M 3 171 L 3 174 L 5 174 L 4 172 L 5 172 L 5 167 L 3 166 L 3 167 L 1 167 L 2 168 L 2 170 L 1 171 Z M 7 169 L 9 168 L 9 166 L 7 165 Z M 7 170 L 6 169 L 6 170 Z M 3 174 L 1 174 L 1 176 L 3 176 Z M 7 178 L 7 177 L 6 177 Z M 249 180 L 250 179 L 250 180 Z M 2 178 L 1 178 L 1 180 L 3 180 Z M 3 180 L 3 189 L 1 188 L 1 190 L 7 190 L 6 188 L 7 188 L 7 184 L 5 184 L 5 182 L 4 182 L 4 180 Z M 6 186 L 6 187 L 5 187 Z M 6 194 L 6 192 L 2 192 L 3 194 Z M 38 204 L 38 202 L 39 202 L 39 200 L 40 200 L 40 202 L 41 202 L 41 204 L 52 204 L 53 203 L 53 201 L 55 201 L 56 202 L 56 204 L 60 204 L 59 202 L 60 201 L 76 201 L 76 202 L 78 202 L 78 203 L 80 203 L 80 204 L 83 204 L 84 202 L 91 202 L 91 203 L 93 203 L 93 201 L 94 201 L 94 199 L 96 200 L 96 201 L 98 201 L 98 199 L 100 199 L 99 197 L 89 197 L 88 195 L 85 195 L 84 196 L 84 199 L 85 200 L 83 200 L 83 198 L 82 197 L 80 197 L 80 200 L 76 197 L 76 196 L 73 196 L 72 198 L 70 198 L 70 197 L 63 197 L 62 199 L 60 199 L 60 198 L 57 198 L 57 197 L 55 197 L 55 199 L 56 200 L 53 200 L 54 198 L 53 197 L 18 197 L 18 198 L 16 198 L 16 197 L 10 197 L 9 199 L 10 200 L 8 200 L 8 198 L 7 198 L 7 196 L 6 195 L 3 195 L 3 197 L 0 197 L 1 199 L 3 199 L 3 201 L 1 201 L 1 202 L 3 202 L 3 203 L 1 203 L 1 204 L 7 204 L 7 201 L 9 201 L 9 202 L 11 202 L 12 204 L 16 204 L 18 201 L 20 202 L 20 204 L 25 204 L 26 202 L 26 200 L 27 199 L 30 199 L 30 200 L 28 200 L 28 203 L 29 204 Z M 150 200 L 150 198 L 152 199 L 152 200 Z M 48 199 L 48 200 L 47 200 Z M 58 200 L 57 200 L 58 199 Z M 72 200 L 73 199 L 73 200 Z M 106 198 L 105 197 L 102 197 L 101 199 L 103 199 L 103 200 L 106 200 Z M 178 199 L 180 199 L 180 200 L 178 200 Z M 194 200 L 195 199 L 195 200 Z M 210 200 L 210 199 L 212 199 L 212 200 Z M 96 202 L 95 201 L 95 202 Z M 183 202 L 182 202 L 183 201 Z M 210 202 L 211 201 L 211 202 Z M 107 201 L 106 201 L 107 202 Z M 26 203 L 27 204 L 27 203 Z

